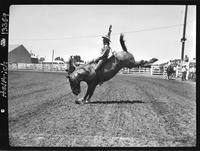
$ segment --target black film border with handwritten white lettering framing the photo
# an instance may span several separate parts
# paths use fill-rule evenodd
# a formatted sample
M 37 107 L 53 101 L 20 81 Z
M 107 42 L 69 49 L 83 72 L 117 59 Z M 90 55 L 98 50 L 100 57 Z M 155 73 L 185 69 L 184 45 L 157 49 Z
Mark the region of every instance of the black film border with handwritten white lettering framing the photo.
M 196 25 L 196 50 L 200 50 L 200 25 L 199 25 L 199 18 L 200 18 L 200 12 L 199 12 L 199 2 L 198 0 L 124 0 L 124 1 L 120 1 L 120 2 L 116 2 L 114 0 L 94 0 L 94 1 L 88 1 L 88 0 L 71 0 L 71 1 L 65 1 L 65 0 L 31 0 L 31 1 L 27 1 L 27 0 L 12 0 L 12 1 L 8 1 L 8 0 L 1 0 L 0 1 L 0 16 L 1 16 L 1 29 L 2 28 L 7 28 L 8 30 L 8 22 L 9 22 L 9 7 L 11 5 L 196 5 L 196 21 L 197 21 L 197 25 Z M 7 17 L 5 17 L 7 16 Z M 3 19 L 4 18 L 4 19 Z M 6 19 L 8 19 L 8 22 L 6 22 Z M 7 26 L 6 26 L 7 23 Z M 2 27 L 3 26 L 3 27 Z M 8 131 L 8 33 L 3 33 L 2 34 L 2 30 L 1 30 L 1 35 L 0 35 L 0 40 L 5 39 L 6 45 L 0 46 L 0 68 L 1 68 L 1 91 L 4 90 L 5 96 L 3 95 L 0 96 L 0 149 L 17 149 L 17 150 L 30 150 L 30 149 L 48 149 L 48 150 L 60 150 L 60 149 L 83 149 L 83 150 L 112 150 L 112 149 L 119 149 L 119 150 L 127 150 L 127 149 L 131 149 L 131 150 L 199 150 L 199 146 L 200 146 L 200 140 L 199 140 L 199 136 L 200 133 L 198 131 L 198 127 L 199 127 L 199 107 L 200 107 L 200 103 L 198 101 L 196 101 L 196 147 L 128 147 L 128 148 L 124 148 L 124 147 L 114 147 L 114 148 L 105 148 L 105 147 L 72 147 L 72 148 L 63 148 L 63 147 L 11 147 L 9 146 L 9 131 Z M 199 55 L 198 55 L 198 51 L 196 51 L 196 63 L 197 63 L 197 70 L 198 70 L 198 64 L 199 64 Z M 199 85 L 198 85 L 198 77 L 199 77 L 199 73 L 197 72 L 197 80 L 196 80 L 196 98 L 199 98 L 199 93 L 198 89 L 199 89 Z M 3 79 L 3 80 L 2 80 Z M 6 82 L 5 82 L 6 81 Z M 6 86 L 5 86 L 6 85 Z M 197 99 L 196 99 L 197 100 Z M 3 110 L 4 109 L 4 112 Z

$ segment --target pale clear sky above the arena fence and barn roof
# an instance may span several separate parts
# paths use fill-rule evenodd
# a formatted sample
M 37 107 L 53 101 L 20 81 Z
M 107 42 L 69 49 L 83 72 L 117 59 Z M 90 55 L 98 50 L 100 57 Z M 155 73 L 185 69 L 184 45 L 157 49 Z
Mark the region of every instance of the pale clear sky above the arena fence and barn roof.
M 112 51 L 122 51 L 124 33 L 135 60 L 158 58 L 158 63 L 181 58 L 184 5 L 12 5 L 9 45 L 23 44 L 36 56 L 51 61 L 80 55 L 89 61 L 100 55 L 101 36 L 112 25 Z M 196 57 L 196 6 L 188 6 L 185 55 Z

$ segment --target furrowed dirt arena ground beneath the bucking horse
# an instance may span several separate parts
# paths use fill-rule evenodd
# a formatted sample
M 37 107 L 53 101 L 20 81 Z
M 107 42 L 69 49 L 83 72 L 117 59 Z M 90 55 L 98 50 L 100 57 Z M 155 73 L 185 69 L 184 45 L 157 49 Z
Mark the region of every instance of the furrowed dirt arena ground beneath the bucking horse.
M 196 145 L 195 82 L 118 74 L 96 88 L 91 103 L 76 98 L 63 73 L 9 72 L 10 145 Z

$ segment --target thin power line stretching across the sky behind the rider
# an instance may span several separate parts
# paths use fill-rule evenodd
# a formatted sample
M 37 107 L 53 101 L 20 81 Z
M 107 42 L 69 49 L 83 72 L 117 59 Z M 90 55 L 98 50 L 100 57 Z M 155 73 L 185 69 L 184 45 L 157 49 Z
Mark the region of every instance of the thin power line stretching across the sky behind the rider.
M 161 26 L 161 27 L 155 27 L 155 28 L 147 28 L 147 29 L 141 29 L 141 30 L 133 30 L 133 31 L 125 31 L 123 33 L 130 34 L 130 33 L 138 33 L 138 32 L 145 32 L 145 31 L 154 31 L 154 30 L 161 30 L 161 29 L 168 29 L 168 28 L 174 28 L 174 27 L 180 27 L 183 24 L 177 24 L 177 25 L 170 25 L 170 26 Z M 120 33 L 113 33 L 112 35 L 119 35 Z M 100 35 L 87 35 L 87 36 L 74 36 L 74 37 L 64 37 L 64 38 L 44 38 L 44 39 L 31 39 L 31 38 L 22 38 L 22 39 L 10 39 L 10 40 L 33 40 L 33 41 L 40 41 L 40 40 L 64 40 L 64 39 L 81 39 L 81 38 L 95 38 L 100 37 Z

